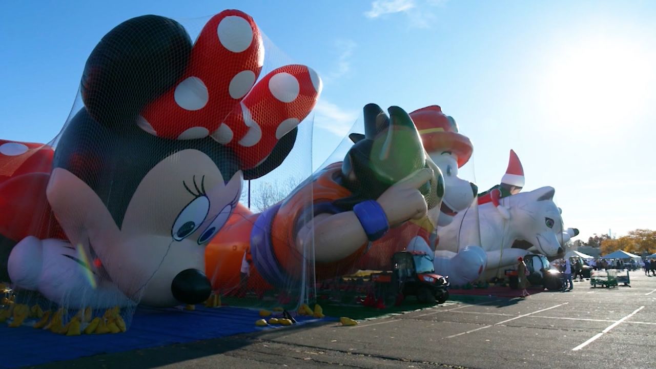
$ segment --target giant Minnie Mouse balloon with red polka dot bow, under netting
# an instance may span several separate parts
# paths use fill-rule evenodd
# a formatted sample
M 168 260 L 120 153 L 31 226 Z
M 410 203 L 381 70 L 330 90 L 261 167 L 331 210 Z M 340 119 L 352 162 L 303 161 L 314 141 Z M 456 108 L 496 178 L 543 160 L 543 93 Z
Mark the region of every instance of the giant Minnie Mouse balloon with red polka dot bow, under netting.
M 321 91 L 302 65 L 256 83 L 263 62 L 262 35 L 240 11 L 213 16 L 193 43 L 162 16 L 111 30 L 54 152 L 0 141 L 1 275 L 64 307 L 207 299 L 205 246 L 242 179 L 290 152 Z

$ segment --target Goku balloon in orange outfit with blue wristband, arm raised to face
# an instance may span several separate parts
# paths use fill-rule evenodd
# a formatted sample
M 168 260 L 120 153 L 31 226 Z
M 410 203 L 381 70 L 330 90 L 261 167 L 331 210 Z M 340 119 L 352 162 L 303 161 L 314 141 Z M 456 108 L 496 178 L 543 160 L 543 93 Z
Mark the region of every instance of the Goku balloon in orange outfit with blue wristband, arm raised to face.
M 440 209 L 443 177 L 413 119 L 396 106 L 389 116 L 375 104 L 363 111 L 365 133 L 350 135 L 354 144 L 342 162 L 314 173 L 276 206 L 243 212 L 220 230 L 206 251 L 213 288 L 234 290 L 243 283 L 241 267 L 249 288 L 265 290 L 297 286 L 292 281 L 308 263 L 316 280 L 344 275 L 372 243 Z

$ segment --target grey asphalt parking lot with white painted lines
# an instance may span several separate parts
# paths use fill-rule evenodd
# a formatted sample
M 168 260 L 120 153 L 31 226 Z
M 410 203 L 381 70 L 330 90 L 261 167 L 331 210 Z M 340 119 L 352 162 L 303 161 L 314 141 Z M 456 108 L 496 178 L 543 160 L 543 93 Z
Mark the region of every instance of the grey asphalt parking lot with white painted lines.
M 366 320 L 269 330 L 38 368 L 656 368 L 656 277 L 528 299 L 453 296 Z M 466 302 L 464 302 L 466 301 Z

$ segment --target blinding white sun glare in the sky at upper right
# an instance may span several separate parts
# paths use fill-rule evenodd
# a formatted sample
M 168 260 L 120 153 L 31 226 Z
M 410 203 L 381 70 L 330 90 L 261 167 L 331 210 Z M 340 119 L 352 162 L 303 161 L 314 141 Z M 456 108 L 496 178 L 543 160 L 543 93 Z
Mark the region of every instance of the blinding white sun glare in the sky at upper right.
M 556 51 L 544 77 L 544 104 L 573 131 L 607 133 L 647 113 L 656 58 L 630 39 L 588 39 Z

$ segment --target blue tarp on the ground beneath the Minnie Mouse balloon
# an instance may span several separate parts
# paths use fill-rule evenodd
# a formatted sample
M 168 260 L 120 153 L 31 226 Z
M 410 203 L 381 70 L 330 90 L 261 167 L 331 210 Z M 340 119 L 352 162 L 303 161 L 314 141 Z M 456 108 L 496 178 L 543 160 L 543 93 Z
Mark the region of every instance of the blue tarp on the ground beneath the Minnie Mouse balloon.
M 0 324 L 0 368 L 37 365 L 58 360 L 117 353 L 275 329 L 256 327 L 257 310 L 236 307 L 195 311 L 140 307 L 129 330 L 120 334 L 61 336 L 29 326 Z M 321 319 L 299 316 L 299 324 Z

